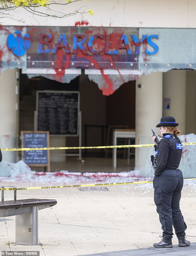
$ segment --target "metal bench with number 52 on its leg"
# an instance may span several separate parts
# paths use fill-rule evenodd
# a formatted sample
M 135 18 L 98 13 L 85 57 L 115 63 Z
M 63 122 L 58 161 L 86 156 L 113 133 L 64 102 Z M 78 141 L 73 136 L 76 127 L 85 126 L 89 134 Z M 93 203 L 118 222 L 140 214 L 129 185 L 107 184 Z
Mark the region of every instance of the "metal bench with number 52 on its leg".
M 8 187 L 8 186 L 6 186 Z M 10 188 L 18 189 L 14 186 Z M 4 187 L 1 187 L 4 188 Z M 38 243 L 38 210 L 51 207 L 57 203 L 53 199 L 22 199 L 4 201 L 4 190 L 2 190 L 2 201 L 0 202 L 0 217 L 15 217 L 15 243 L 20 245 L 39 245 Z

